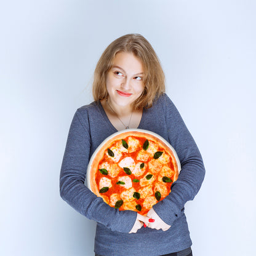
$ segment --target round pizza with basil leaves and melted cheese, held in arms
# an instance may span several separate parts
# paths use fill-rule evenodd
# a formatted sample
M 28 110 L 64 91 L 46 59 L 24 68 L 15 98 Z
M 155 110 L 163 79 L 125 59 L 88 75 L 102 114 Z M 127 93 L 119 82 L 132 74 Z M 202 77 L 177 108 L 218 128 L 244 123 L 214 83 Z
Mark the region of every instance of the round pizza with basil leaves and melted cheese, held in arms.
M 148 130 L 127 129 L 106 138 L 90 159 L 87 186 L 119 210 L 146 215 L 170 193 L 180 161 L 174 148 Z

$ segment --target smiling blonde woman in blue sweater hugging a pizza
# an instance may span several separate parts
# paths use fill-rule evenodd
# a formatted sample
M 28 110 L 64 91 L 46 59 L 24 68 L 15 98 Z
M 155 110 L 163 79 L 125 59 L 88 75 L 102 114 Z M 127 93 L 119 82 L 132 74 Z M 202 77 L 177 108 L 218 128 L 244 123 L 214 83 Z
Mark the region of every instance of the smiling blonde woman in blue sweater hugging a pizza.
M 127 34 L 112 42 L 97 63 L 95 102 L 74 114 L 60 173 L 60 194 L 74 209 L 97 222 L 95 255 L 192 255 L 184 205 L 198 193 L 204 165 L 164 91 L 164 73 L 150 43 L 140 34 Z M 175 148 L 182 165 L 169 196 L 155 204 L 146 217 L 108 206 L 84 185 L 95 149 L 106 137 L 126 128 L 161 135 Z

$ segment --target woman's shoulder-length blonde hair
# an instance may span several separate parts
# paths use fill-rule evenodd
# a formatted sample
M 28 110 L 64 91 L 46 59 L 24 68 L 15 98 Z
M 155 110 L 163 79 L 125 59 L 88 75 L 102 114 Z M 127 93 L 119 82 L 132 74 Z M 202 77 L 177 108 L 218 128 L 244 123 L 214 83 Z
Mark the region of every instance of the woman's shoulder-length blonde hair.
M 108 97 L 106 76 L 118 52 L 131 52 L 139 58 L 143 64 L 143 84 L 145 87 L 142 95 L 133 103 L 134 110 L 151 108 L 154 100 L 159 98 L 166 90 L 165 77 L 156 52 L 154 52 L 150 42 L 141 34 L 126 34 L 114 40 L 106 47 L 94 71 L 92 94 L 95 102 Z

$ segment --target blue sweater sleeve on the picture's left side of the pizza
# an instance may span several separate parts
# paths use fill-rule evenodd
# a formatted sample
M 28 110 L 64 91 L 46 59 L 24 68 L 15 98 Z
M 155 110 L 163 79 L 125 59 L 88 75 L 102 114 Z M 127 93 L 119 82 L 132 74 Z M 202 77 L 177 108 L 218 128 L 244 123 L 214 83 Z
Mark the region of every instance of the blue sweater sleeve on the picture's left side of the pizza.
M 88 118 L 78 111 L 71 122 L 60 171 L 60 196 L 80 214 L 112 231 L 129 233 L 137 213 L 108 206 L 84 185 L 90 155 Z

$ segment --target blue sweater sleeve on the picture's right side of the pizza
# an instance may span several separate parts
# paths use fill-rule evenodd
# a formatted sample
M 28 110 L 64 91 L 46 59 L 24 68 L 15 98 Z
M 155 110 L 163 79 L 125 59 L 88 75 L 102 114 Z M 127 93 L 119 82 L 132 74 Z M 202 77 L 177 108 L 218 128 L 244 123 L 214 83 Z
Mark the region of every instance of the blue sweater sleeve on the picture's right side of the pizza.
M 169 97 L 163 104 L 170 144 L 178 154 L 182 170 L 172 183 L 170 194 L 153 206 L 159 217 L 169 225 L 178 218 L 187 201 L 193 200 L 201 188 L 205 169 L 201 154 L 182 117 Z

